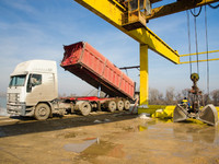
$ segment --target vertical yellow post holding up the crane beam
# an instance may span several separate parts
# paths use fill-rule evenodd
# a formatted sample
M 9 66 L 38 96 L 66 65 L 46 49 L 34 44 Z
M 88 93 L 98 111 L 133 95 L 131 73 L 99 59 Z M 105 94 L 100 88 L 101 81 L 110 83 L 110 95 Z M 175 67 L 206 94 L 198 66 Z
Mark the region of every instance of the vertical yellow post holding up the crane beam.
M 140 44 L 140 105 L 148 108 L 148 45 Z

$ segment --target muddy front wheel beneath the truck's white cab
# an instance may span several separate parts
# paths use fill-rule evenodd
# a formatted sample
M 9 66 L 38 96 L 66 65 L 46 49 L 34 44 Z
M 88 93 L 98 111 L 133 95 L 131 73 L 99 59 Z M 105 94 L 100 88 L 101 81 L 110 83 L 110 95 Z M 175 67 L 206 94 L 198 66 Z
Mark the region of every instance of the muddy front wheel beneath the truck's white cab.
M 36 106 L 34 112 L 34 117 L 37 120 L 46 120 L 49 115 L 50 115 L 50 107 L 47 104 L 41 103 Z

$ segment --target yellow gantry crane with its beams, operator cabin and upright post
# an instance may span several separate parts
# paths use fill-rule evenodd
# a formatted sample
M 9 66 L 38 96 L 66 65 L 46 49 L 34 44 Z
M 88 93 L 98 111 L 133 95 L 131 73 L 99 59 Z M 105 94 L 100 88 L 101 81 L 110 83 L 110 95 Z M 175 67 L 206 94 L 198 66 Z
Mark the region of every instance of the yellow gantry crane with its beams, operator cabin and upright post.
M 173 14 L 219 0 L 176 0 L 159 8 L 152 3 L 162 0 L 74 0 L 96 15 L 101 16 L 139 43 L 140 48 L 140 102 L 139 108 L 148 107 L 148 49 L 155 51 L 173 63 L 183 63 L 176 50 L 147 27 L 151 19 Z M 168 2 L 163 0 L 163 2 Z

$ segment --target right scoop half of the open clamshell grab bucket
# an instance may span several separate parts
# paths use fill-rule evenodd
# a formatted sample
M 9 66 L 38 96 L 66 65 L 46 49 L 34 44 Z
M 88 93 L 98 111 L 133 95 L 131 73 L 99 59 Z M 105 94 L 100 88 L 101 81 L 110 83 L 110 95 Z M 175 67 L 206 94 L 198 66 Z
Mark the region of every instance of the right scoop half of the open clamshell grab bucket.
M 196 119 L 199 119 L 211 126 L 217 126 L 218 112 L 212 104 L 209 104 L 199 112 L 199 116 Z

